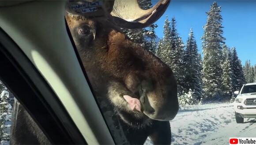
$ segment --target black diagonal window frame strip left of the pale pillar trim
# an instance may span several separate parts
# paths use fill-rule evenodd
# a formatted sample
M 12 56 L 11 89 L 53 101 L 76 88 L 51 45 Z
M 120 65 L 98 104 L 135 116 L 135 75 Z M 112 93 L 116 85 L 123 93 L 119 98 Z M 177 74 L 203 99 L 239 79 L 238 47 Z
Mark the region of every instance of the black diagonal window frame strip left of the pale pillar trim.
M 87 145 L 87 141 L 49 84 L 30 62 L 26 54 L 1 28 L 0 62 L 3 62 L 1 63 L 2 69 L 0 69 L 1 80 L 53 144 Z M 20 65 L 21 63 L 23 66 Z M 28 98 L 26 96 L 33 97 Z M 55 106 L 49 105 L 45 100 L 46 98 L 55 101 Z

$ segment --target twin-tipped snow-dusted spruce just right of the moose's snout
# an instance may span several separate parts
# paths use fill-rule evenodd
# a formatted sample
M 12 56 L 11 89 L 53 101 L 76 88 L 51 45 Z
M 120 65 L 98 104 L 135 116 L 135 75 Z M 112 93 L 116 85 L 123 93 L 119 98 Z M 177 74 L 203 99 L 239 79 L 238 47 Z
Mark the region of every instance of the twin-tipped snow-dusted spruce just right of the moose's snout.
M 166 16 L 164 36 L 158 43 L 157 56 L 168 65 L 178 83 L 178 93 L 182 94 L 184 86 L 184 43 L 177 33 L 176 20 L 169 22 Z

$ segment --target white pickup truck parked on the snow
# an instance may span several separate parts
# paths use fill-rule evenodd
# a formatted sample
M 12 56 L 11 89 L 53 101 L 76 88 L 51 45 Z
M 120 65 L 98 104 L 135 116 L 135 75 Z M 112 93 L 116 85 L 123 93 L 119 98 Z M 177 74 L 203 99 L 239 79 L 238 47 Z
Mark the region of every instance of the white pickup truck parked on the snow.
M 234 94 L 237 94 L 234 101 L 237 123 L 244 123 L 244 118 L 256 118 L 256 83 L 246 83 Z

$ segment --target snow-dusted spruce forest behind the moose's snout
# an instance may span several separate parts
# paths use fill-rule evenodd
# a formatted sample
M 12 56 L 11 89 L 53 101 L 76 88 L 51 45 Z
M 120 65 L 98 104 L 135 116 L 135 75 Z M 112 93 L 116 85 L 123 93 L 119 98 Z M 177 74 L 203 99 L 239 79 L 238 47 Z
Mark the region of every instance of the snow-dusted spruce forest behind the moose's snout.
M 140 7 L 152 7 L 151 0 L 139 0 Z M 256 82 L 256 65 L 250 60 L 242 66 L 235 47 L 226 45 L 223 37 L 221 6 L 214 2 L 206 12 L 203 25 L 202 46 L 197 46 L 193 29 L 188 39 L 178 33 L 175 18 L 166 16 L 163 37 L 156 42 L 155 28 L 125 29 L 129 38 L 151 51 L 174 72 L 178 83 L 178 98 L 181 105 L 193 105 L 211 101 L 232 101 L 233 92 L 245 83 Z M 198 47 L 202 48 L 200 53 Z

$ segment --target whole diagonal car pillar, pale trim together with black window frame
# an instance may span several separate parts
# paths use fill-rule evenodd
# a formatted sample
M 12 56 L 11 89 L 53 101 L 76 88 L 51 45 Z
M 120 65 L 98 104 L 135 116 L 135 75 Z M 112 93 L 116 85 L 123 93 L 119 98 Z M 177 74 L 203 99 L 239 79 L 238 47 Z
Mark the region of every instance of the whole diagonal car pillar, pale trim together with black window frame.
M 54 144 L 114 144 L 68 32 L 65 3 L 0 1 L 0 78 Z

